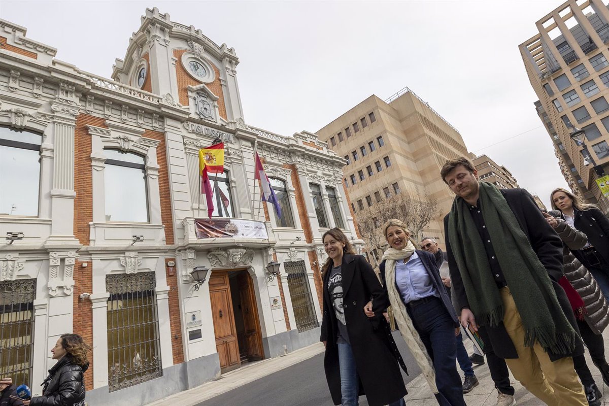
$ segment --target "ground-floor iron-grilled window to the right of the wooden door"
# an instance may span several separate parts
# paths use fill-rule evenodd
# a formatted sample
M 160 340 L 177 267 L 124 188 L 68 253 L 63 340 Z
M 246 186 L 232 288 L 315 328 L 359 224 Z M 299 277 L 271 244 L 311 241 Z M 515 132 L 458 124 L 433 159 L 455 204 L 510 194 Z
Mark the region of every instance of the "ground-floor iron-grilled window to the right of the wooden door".
M 298 332 L 314 329 L 319 326 L 319 323 L 313 306 L 305 261 L 284 262 L 283 267 L 287 273 L 287 287 L 290 290 Z

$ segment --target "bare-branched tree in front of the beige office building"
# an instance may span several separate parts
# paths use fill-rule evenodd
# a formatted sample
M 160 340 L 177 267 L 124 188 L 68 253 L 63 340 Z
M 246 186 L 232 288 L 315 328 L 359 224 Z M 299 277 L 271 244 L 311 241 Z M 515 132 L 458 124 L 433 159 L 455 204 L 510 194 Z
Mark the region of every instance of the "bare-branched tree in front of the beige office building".
M 382 187 L 380 188 L 383 189 Z M 357 212 L 356 219 L 362 238 L 367 242 L 370 251 L 382 255 L 385 246 L 385 236 L 382 225 L 390 219 L 400 219 L 412 232 L 415 240 L 423 237 L 423 229 L 440 214 L 437 199 L 427 194 L 412 195 L 408 191 L 392 195 L 377 201 L 372 206 Z M 370 255 L 378 266 L 378 259 Z

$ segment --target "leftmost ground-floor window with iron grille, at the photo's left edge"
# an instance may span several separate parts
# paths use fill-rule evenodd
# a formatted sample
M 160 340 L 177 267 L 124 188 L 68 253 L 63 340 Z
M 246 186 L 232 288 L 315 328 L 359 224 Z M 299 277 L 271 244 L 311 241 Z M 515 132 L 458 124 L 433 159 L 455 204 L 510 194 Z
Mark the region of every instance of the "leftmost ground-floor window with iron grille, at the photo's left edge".
M 35 296 L 36 279 L 0 282 L 0 377 L 30 387 Z

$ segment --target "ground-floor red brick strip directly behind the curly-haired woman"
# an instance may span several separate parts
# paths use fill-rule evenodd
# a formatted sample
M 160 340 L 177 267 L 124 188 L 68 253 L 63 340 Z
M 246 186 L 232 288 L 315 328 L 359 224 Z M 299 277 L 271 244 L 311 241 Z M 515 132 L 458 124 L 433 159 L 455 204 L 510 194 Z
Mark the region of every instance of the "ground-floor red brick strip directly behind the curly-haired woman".
M 91 167 L 90 167 L 91 168 Z M 87 264 L 86 268 L 82 264 Z M 80 293 L 93 292 L 93 262 L 76 261 L 74 265 L 74 315 L 72 331 L 80 334 L 85 343 L 93 348 L 93 304 L 90 300 L 81 301 Z M 88 354 L 89 369 L 85 371 L 86 390 L 93 390 L 93 351 Z

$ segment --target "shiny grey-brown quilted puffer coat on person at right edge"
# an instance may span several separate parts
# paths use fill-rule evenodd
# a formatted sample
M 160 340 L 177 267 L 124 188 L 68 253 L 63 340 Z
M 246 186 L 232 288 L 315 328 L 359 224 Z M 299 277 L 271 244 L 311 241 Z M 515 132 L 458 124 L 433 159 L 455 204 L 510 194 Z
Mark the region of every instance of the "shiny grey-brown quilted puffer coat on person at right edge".
M 609 307 L 599 284 L 593 278 L 571 250 L 579 250 L 588 241 L 586 234 L 569 226 L 565 220 L 557 219 L 558 226 L 554 229 L 565 244 L 563 262 L 565 263 L 565 276 L 571 285 L 582 297 L 586 307 L 584 319 L 594 334 L 602 334 L 609 324 Z

